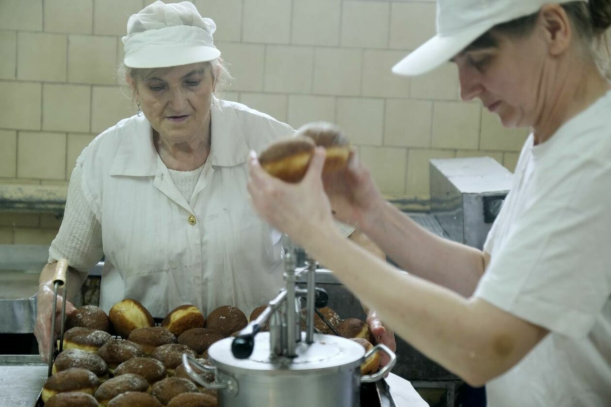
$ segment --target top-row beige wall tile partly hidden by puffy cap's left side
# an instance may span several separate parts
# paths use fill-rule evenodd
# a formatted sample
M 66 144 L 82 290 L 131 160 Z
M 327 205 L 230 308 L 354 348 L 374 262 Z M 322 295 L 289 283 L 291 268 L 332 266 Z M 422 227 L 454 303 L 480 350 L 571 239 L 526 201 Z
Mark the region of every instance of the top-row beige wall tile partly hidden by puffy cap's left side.
M 130 15 L 142 10 L 142 0 L 93 0 L 93 34 L 126 35 Z

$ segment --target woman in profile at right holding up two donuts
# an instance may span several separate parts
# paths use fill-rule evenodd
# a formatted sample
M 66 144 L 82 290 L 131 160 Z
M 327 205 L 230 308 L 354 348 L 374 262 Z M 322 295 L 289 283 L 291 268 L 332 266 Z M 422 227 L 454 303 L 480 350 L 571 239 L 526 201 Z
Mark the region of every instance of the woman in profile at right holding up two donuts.
M 255 206 L 400 336 L 486 383 L 489 406 L 608 406 L 611 85 L 593 44 L 611 24 L 611 1 L 438 0 L 437 22 L 437 36 L 393 70 L 422 74 L 452 60 L 463 99 L 532 129 L 484 250 L 417 226 L 356 159 L 321 180 L 324 150 L 296 185 L 253 156 Z M 414 275 L 327 228 L 331 207 Z

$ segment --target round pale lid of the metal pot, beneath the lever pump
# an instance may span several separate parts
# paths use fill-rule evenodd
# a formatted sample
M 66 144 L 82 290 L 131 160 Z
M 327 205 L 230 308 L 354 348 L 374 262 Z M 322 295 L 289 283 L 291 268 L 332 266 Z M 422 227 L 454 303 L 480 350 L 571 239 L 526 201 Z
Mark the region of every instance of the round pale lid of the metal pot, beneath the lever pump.
M 255 347 L 248 359 L 236 359 L 231 351 L 233 337 L 214 342 L 208 348 L 208 355 L 214 366 L 221 370 L 232 372 L 304 372 L 307 370 L 333 370 L 342 371 L 354 369 L 362 363 L 365 349 L 354 340 L 339 336 L 314 334 L 314 342 L 305 344 L 305 334 L 302 342 L 296 346 L 297 356 L 292 359 L 280 357 L 271 358 L 269 352 L 269 332 L 261 332 L 255 336 Z

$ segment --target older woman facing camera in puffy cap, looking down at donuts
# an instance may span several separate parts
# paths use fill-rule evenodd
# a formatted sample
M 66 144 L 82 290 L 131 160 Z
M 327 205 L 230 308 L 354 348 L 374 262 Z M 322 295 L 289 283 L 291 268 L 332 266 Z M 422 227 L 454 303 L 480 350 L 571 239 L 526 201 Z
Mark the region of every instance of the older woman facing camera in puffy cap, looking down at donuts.
M 253 212 L 246 158 L 293 129 L 214 96 L 229 73 L 213 45 L 214 22 L 190 2 L 156 1 L 127 27 L 125 76 L 141 111 L 93 140 L 71 175 L 40 277 L 35 334 L 43 357 L 49 279 L 60 258 L 78 289 L 104 254 L 106 312 L 124 298 L 157 317 L 181 304 L 250 312 L 282 286 L 281 235 Z

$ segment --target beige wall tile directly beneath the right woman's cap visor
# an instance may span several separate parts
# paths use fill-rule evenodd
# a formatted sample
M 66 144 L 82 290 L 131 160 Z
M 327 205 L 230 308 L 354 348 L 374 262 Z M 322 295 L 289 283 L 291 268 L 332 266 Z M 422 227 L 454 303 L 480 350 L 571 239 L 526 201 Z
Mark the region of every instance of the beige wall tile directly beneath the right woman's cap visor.
M 412 77 L 411 97 L 414 99 L 458 100 L 459 96 L 458 70 L 453 63 Z

